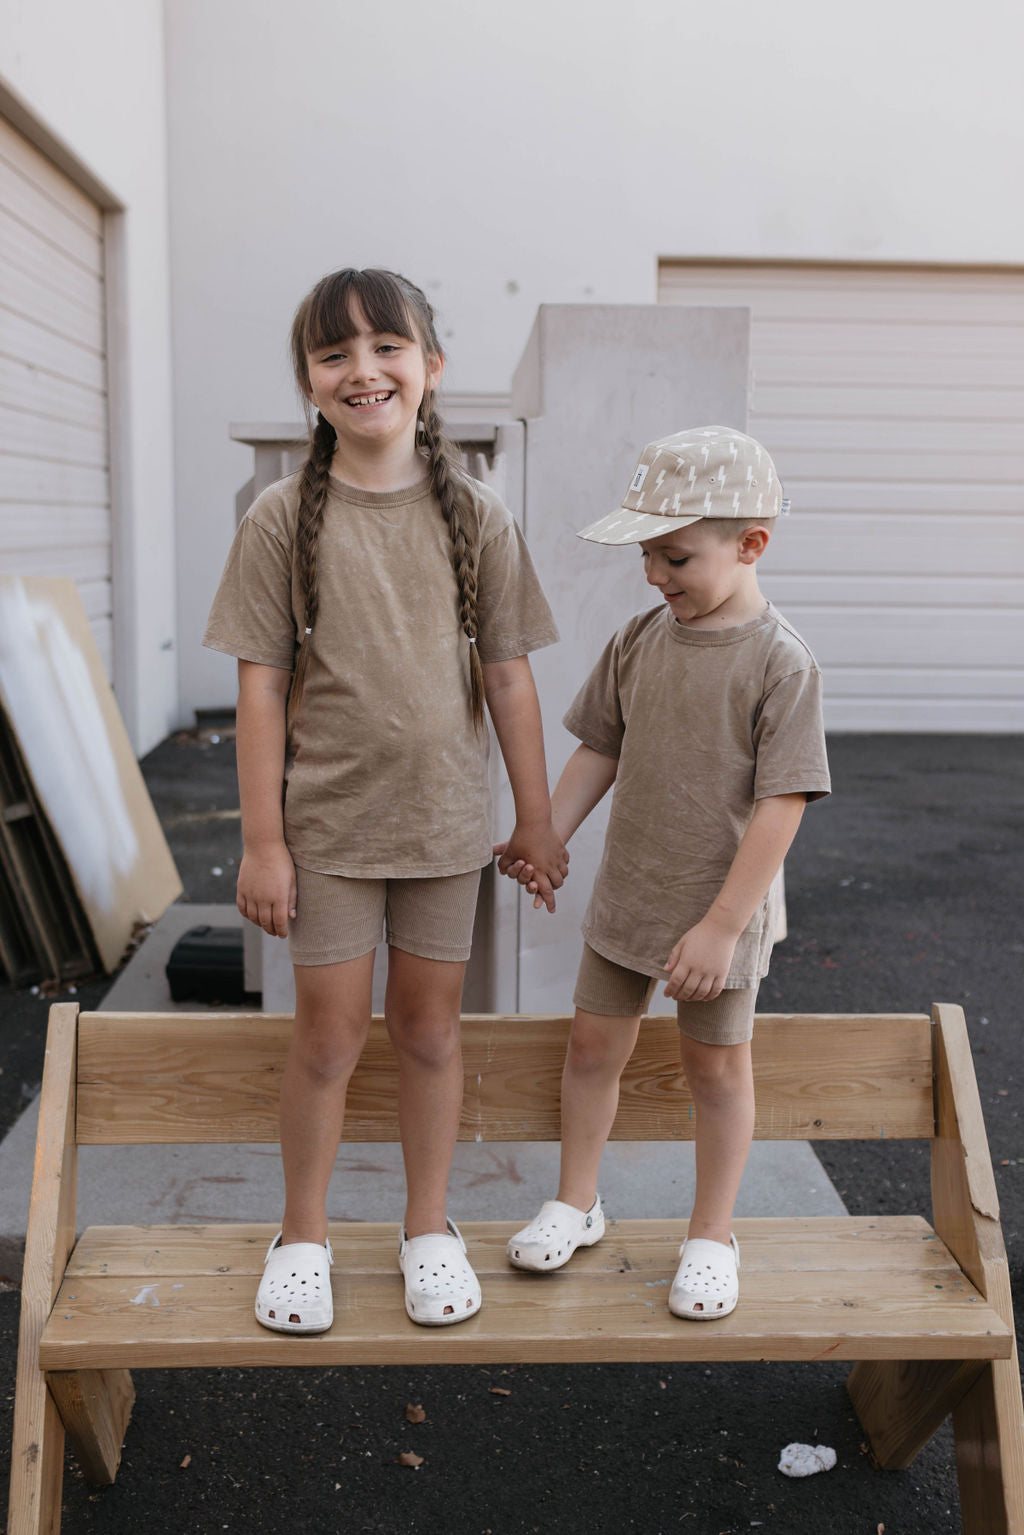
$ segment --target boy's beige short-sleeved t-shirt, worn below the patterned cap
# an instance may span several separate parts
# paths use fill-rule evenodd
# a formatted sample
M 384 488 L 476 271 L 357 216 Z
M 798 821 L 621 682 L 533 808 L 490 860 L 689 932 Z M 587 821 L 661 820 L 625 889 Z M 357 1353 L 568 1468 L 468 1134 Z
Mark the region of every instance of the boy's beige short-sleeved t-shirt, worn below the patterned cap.
M 563 723 L 619 758 L 583 938 L 659 979 L 722 889 L 755 801 L 831 789 L 821 674 L 771 606 L 734 629 L 688 629 L 665 606 L 629 619 Z M 768 973 L 775 906 L 772 887 L 740 935 L 728 987 Z

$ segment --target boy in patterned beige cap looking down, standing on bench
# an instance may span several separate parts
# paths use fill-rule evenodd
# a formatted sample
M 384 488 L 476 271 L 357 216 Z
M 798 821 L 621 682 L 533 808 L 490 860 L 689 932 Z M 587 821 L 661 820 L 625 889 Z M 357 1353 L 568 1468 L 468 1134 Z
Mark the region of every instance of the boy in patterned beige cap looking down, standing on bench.
M 648 444 L 622 507 L 580 533 L 639 543 L 663 603 L 623 625 L 565 715 L 582 744 L 551 800 L 562 840 L 616 792 L 583 919 L 559 1193 L 508 1243 L 513 1265 L 547 1271 L 603 1234 L 597 1168 L 619 1078 L 668 976 L 697 1156 L 669 1309 L 703 1322 L 738 1300 L 731 1222 L 754 1133 L 772 881 L 804 804 L 829 792 L 818 668 L 757 582 L 780 510 L 765 448 L 703 427 Z M 534 889 L 528 866 L 499 869 Z

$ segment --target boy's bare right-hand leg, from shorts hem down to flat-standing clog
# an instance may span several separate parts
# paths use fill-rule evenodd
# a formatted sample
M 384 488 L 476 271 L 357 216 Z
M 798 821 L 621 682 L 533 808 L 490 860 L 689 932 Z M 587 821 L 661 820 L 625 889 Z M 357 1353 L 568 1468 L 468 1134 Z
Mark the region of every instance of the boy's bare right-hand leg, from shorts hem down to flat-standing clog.
M 679 1041 L 697 1119 L 697 1193 L 688 1234 L 728 1245 L 754 1137 L 751 1045 L 709 1045 L 686 1035 Z

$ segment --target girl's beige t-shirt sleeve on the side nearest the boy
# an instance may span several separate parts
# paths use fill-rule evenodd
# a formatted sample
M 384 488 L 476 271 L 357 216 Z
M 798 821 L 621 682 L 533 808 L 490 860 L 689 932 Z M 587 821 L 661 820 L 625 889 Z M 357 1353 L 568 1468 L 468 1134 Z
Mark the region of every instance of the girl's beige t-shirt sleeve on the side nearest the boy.
M 559 637 L 527 540 L 511 517 L 481 550 L 476 616 L 482 662 L 527 655 Z

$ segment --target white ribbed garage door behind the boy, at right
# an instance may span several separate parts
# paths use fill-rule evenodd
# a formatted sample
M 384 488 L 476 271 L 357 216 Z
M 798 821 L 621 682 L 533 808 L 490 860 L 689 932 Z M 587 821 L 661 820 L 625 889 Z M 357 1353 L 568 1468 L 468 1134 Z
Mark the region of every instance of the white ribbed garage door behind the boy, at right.
M 1024 729 L 1024 272 L 665 261 L 659 298 L 751 309 L 765 588 L 829 726 Z

